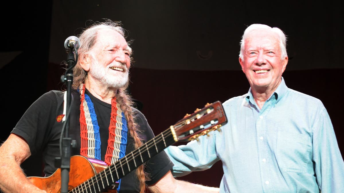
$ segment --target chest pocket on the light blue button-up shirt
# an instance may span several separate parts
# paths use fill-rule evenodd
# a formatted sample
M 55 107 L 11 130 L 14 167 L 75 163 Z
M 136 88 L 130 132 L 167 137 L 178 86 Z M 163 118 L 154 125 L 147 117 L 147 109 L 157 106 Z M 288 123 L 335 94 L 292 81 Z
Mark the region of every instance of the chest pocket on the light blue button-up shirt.
M 306 172 L 311 149 L 311 139 L 307 134 L 278 131 L 277 162 L 283 170 Z

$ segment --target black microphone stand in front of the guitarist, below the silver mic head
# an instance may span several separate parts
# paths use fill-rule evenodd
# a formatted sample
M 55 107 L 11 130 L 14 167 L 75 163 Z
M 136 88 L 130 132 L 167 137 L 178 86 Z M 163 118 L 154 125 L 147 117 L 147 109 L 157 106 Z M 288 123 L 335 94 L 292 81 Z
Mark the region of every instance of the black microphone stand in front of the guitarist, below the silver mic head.
M 73 84 L 73 68 L 78 60 L 78 53 L 75 44 L 73 48 L 70 48 L 70 52 L 67 56 L 68 69 L 64 76 L 61 76 L 61 81 L 65 82 L 67 86 L 67 101 L 66 101 L 66 120 L 62 128 L 61 137 L 65 131 L 65 137 L 62 138 L 62 143 L 60 139 L 60 155 L 61 158 L 55 158 L 55 164 L 60 164 L 61 168 L 61 193 L 68 192 L 68 182 L 69 182 L 69 169 L 71 165 L 71 146 L 75 147 L 75 140 L 69 137 L 69 117 L 70 117 L 70 106 L 72 98 L 72 84 Z M 75 60 L 74 60 L 75 53 Z M 62 148 L 61 148 L 62 147 Z

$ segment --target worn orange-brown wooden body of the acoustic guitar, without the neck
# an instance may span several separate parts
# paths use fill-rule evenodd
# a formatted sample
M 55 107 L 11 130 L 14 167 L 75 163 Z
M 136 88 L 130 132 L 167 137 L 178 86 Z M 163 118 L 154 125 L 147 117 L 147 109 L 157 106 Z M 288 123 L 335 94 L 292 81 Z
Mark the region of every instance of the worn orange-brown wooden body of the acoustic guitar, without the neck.
M 83 183 L 93 177 L 96 173 L 107 168 L 103 161 L 86 158 L 84 156 L 72 156 L 71 167 L 69 170 L 68 190 Z M 61 192 L 61 169 L 58 168 L 49 177 L 28 177 L 28 179 L 38 188 L 45 190 L 47 193 Z

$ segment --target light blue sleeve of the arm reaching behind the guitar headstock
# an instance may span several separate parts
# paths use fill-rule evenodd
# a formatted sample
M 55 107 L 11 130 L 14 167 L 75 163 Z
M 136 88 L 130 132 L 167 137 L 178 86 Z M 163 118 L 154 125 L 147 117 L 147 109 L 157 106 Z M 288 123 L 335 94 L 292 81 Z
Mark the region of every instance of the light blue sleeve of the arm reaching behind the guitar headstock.
M 203 171 L 213 166 L 219 160 L 215 147 L 216 133 L 201 136 L 186 145 L 169 146 L 165 152 L 172 160 L 174 166 L 172 174 L 181 177 L 193 171 Z

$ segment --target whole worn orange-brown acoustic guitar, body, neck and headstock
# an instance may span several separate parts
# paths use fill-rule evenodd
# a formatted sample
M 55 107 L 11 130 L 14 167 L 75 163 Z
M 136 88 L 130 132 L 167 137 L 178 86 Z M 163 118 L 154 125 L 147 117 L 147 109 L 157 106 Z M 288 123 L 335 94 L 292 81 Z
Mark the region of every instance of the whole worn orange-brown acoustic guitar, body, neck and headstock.
M 133 150 L 117 162 L 107 166 L 101 160 L 84 156 L 72 156 L 70 159 L 68 192 L 116 192 L 107 190 L 117 180 L 135 170 L 142 163 L 163 151 L 177 141 L 198 140 L 202 135 L 209 135 L 213 130 L 227 123 L 222 103 L 207 103 L 204 108 L 186 114 L 183 119 L 171 125 L 136 150 Z M 61 192 L 61 169 L 49 177 L 28 177 L 38 188 L 48 193 Z

